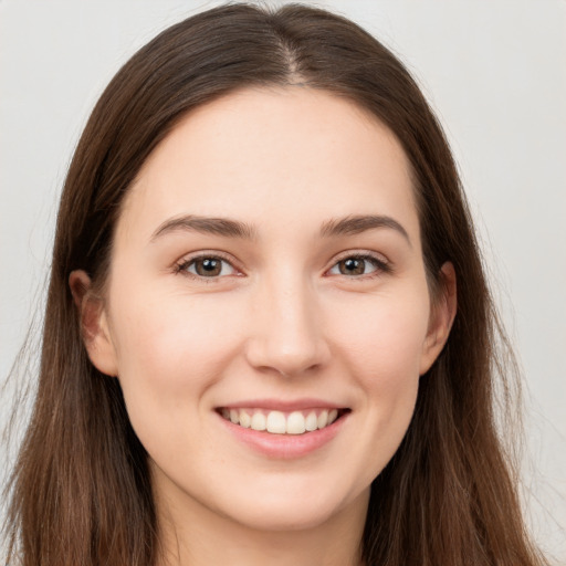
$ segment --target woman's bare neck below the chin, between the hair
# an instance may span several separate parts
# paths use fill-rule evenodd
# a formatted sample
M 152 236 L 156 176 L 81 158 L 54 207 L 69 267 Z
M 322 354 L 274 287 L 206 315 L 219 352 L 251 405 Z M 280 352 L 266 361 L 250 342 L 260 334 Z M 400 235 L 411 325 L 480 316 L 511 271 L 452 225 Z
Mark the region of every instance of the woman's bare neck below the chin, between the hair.
M 191 501 L 157 502 L 160 566 L 361 566 L 369 491 L 321 524 L 261 530 Z M 185 502 L 186 503 L 186 502 Z

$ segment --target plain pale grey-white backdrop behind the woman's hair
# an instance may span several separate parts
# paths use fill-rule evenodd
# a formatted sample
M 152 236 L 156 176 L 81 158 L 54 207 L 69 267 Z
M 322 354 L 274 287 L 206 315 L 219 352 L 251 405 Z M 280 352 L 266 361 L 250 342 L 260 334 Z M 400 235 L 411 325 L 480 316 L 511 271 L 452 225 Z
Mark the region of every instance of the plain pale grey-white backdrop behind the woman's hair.
M 59 192 L 90 109 L 135 50 L 217 3 L 0 0 L 0 381 L 43 308 Z M 444 125 L 524 368 L 532 528 L 566 564 L 566 1 L 317 6 L 399 54 Z

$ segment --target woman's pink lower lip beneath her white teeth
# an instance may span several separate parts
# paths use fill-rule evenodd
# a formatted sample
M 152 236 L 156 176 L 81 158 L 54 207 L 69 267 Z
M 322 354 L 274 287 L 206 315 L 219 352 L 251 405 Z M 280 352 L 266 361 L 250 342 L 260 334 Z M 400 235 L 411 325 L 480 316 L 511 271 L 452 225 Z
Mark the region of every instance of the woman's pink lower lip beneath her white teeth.
M 331 442 L 340 431 L 348 416 L 349 413 L 345 413 L 328 427 L 303 434 L 273 434 L 240 427 L 220 415 L 218 418 L 240 442 L 256 452 L 273 459 L 291 460 L 311 454 Z

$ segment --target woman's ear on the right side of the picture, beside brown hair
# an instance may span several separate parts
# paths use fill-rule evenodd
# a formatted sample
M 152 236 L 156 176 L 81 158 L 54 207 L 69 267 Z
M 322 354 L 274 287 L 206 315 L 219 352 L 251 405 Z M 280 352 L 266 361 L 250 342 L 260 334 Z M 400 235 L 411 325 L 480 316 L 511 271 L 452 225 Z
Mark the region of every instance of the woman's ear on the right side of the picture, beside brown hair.
M 420 375 L 426 374 L 438 358 L 450 335 L 457 312 L 454 266 L 446 262 L 440 269 L 439 296 L 433 300 L 429 327 L 421 356 Z

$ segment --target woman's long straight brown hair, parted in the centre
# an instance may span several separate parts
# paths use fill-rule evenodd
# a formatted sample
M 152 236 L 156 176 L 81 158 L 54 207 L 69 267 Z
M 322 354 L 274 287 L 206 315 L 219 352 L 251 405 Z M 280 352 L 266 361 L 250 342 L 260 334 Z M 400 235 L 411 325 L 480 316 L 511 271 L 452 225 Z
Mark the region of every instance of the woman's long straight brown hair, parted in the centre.
M 158 560 L 147 454 L 118 380 L 88 360 L 69 275 L 85 270 L 103 287 L 123 198 L 182 116 L 237 88 L 297 83 L 355 102 L 396 134 L 412 168 L 431 290 L 441 287 L 446 261 L 458 279 L 448 344 L 421 377 L 406 438 L 373 483 L 366 564 L 544 563 L 528 543 L 497 434 L 494 388 L 509 389 L 496 370 L 497 318 L 441 127 L 403 65 L 356 24 L 302 6 L 248 4 L 197 14 L 138 51 L 81 137 L 59 211 L 36 400 L 11 483 L 10 563 Z

